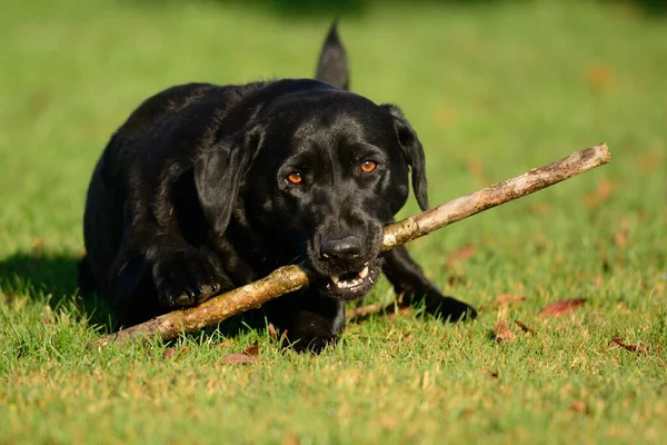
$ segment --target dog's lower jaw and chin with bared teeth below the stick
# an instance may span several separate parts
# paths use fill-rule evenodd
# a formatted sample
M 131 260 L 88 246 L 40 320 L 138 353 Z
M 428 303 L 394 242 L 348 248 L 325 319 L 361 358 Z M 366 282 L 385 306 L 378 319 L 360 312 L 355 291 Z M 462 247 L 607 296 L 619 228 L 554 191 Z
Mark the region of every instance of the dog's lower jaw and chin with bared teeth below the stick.
M 322 277 L 318 280 L 322 294 L 341 300 L 354 300 L 364 297 L 380 278 L 381 260 L 376 258 L 366 263 L 360 270 Z

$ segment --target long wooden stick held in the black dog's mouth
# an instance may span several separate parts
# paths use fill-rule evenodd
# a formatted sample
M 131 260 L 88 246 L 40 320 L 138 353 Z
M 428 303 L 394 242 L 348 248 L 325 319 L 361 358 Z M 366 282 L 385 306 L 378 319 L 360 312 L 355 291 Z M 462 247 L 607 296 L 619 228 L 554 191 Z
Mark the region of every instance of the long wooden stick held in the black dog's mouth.
M 468 218 L 491 207 L 521 198 L 573 176 L 607 164 L 611 159 L 606 144 L 600 144 L 547 166 L 532 169 L 474 194 L 412 216 L 385 228 L 382 251 L 422 237 L 436 229 Z M 280 295 L 297 290 L 309 281 L 299 266 L 285 266 L 266 278 L 213 297 L 199 306 L 175 310 L 128 329 L 108 335 L 94 346 L 125 343 L 137 337 L 161 337 L 165 340 L 217 325 L 226 318 L 257 308 Z

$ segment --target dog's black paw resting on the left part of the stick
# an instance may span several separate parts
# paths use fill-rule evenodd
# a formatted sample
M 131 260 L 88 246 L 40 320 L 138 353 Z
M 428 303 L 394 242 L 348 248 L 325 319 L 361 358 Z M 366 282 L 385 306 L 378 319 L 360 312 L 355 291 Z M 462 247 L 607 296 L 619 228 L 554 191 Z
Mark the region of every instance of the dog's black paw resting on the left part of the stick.
M 157 255 L 152 277 L 158 300 L 168 307 L 192 306 L 228 287 L 217 259 L 195 248 Z

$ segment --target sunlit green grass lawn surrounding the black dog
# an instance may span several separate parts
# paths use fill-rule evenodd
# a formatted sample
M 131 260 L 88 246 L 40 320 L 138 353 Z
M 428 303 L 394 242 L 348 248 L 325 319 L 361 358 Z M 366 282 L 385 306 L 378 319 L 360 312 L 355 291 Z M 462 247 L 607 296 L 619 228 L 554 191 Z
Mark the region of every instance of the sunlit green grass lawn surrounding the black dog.
M 233 4 L 3 3 L 0 442 L 664 441 L 667 27 L 620 3 L 372 7 L 342 21 L 352 87 L 405 109 L 427 149 L 434 204 L 599 141 L 614 154 L 411 245 L 445 291 L 482 306 L 477 322 L 377 316 L 320 356 L 245 329 L 86 348 L 106 329 L 89 318 L 106 315 L 76 297 L 74 261 L 109 135 L 173 83 L 313 71 L 329 14 Z M 466 246 L 470 257 L 451 257 Z M 500 294 L 526 300 L 502 309 Z M 537 315 L 575 297 L 588 300 Z M 368 300 L 390 301 L 388 284 Z M 489 338 L 499 319 L 514 342 Z M 648 355 L 611 347 L 613 337 Z M 259 363 L 223 363 L 255 342 Z M 166 359 L 170 346 L 188 349 Z

